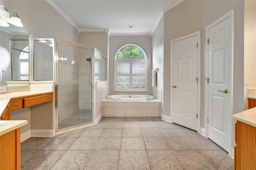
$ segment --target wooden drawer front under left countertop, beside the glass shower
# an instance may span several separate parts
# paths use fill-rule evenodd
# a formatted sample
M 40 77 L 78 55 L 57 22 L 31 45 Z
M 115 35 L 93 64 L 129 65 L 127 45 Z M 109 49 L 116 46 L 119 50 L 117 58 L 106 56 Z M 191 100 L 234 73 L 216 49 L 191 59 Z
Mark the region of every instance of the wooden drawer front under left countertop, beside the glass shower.
M 42 103 L 47 103 L 49 101 L 52 101 L 52 95 L 50 94 L 36 96 L 36 97 L 29 97 L 24 99 L 24 108 L 31 107 L 34 105 L 40 105 Z

